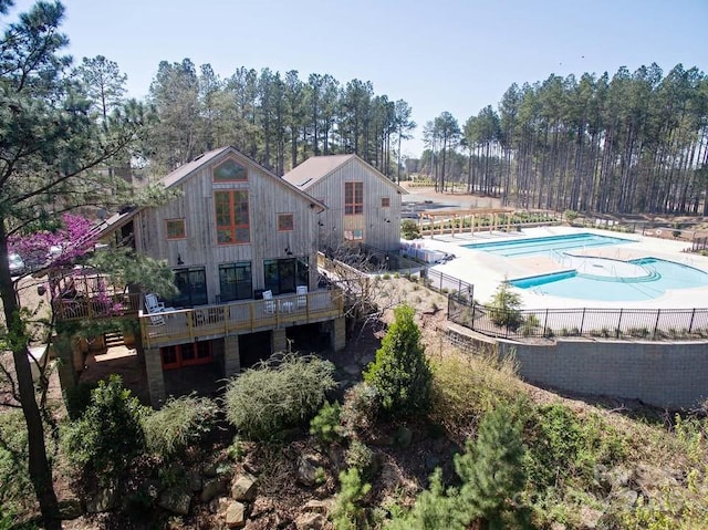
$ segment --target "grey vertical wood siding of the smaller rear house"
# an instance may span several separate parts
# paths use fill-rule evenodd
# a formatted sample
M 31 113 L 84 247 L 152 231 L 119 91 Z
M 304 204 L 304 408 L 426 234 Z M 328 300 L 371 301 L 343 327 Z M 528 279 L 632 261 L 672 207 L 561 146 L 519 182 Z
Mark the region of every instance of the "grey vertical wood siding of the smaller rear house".
M 364 183 L 364 212 L 344 215 L 344 183 Z M 320 214 L 320 239 L 324 246 L 335 247 L 344 239 L 344 230 L 363 230 L 362 242 L 382 250 L 397 251 L 400 246 L 400 202 L 398 188 L 387 178 L 373 174 L 362 160 L 353 158 L 306 188 L 327 209 Z M 382 208 L 381 199 L 388 197 L 391 206 Z M 388 220 L 389 222 L 386 222 Z

